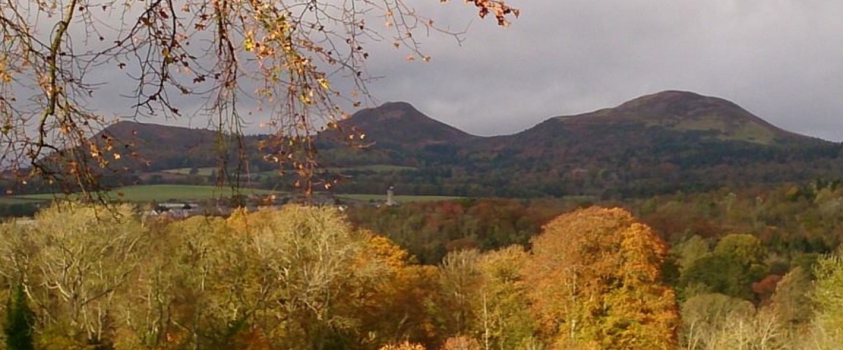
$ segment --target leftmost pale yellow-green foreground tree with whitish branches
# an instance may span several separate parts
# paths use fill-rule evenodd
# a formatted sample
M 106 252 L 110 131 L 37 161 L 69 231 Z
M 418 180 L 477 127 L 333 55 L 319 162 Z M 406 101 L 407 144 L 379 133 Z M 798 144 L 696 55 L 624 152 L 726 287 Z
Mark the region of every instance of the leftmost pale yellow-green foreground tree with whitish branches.
M 22 281 L 38 348 L 109 346 L 120 295 L 145 253 L 133 209 L 67 203 L 41 211 L 32 225 L 2 229 L 0 273 Z

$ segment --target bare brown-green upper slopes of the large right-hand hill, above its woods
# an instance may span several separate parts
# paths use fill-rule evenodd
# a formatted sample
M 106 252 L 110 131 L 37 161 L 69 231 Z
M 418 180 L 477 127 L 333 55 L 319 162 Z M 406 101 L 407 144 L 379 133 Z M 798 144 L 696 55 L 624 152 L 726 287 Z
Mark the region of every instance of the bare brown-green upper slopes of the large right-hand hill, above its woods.
M 615 108 L 548 119 L 535 127 L 493 141 L 498 147 L 635 147 L 658 143 L 659 134 L 693 135 L 696 141 L 738 141 L 759 145 L 822 142 L 779 129 L 738 105 L 691 92 L 664 91 Z M 632 139 L 629 139 L 632 137 Z M 572 143 L 576 142 L 577 145 Z M 559 144 L 561 143 L 561 144 Z M 544 146 L 541 146 L 544 145 Z

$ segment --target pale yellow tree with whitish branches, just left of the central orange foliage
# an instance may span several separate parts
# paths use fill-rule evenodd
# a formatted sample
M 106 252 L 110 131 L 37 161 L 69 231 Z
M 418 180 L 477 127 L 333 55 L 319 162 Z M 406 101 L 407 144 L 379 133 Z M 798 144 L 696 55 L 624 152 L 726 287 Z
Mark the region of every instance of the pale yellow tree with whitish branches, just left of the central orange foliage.
M 354 264 L 366 237 L 330 207 L 239 212 L 228 225 L 246 239 L 252 263 L 244 293 L 262 332 L 278 339 L 272 347 L 348 347 L 336 342 L 357 326 L 357 318 L 342 312 L 342 305 L 354 292 L 352 283 L 380 272 Z

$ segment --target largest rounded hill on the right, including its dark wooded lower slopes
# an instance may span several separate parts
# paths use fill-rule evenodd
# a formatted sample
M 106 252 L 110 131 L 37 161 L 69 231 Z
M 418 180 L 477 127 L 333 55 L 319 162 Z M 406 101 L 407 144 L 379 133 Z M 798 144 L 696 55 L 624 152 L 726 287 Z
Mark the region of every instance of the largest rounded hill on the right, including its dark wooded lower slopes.
M 476 140 L 463 155 L 474 159 L 478 173 L 508 169 L 522 174 L 523 183 L 544 183 L 531 192 L 557 195 L 800 181 L 838 176 L 829 170 L 840 168 L 839 144 L 784 131 L 732 102 L 681 91 Z

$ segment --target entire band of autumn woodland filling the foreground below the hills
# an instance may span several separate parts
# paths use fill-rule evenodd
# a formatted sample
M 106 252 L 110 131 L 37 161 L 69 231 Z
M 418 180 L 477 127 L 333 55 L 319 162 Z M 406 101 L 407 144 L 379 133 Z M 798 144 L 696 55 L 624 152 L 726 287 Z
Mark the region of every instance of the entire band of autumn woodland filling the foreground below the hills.
M 843 186 L 0 226 L 8 349 L 834 349 Z

